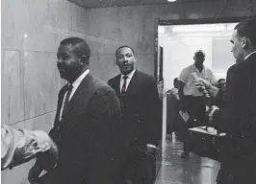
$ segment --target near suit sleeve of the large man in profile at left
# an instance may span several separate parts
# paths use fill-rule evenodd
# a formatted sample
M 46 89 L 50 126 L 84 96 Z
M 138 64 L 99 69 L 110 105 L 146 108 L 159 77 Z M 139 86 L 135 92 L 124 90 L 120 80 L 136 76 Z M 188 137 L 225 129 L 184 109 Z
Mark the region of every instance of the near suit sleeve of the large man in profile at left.
M 104 183 L 119 172 L 121 111 L 115 91 L 101 87 L 90 100 L 93 125 L 93 168 L 95 183 Z M 98 177 L 101 173 L 101 177 Z

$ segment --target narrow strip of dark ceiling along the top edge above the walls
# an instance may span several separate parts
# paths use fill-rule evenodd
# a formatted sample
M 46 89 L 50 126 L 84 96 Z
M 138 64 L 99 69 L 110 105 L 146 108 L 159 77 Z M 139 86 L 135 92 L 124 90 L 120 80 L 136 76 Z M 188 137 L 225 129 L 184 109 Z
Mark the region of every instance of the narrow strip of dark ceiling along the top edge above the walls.
M 167 0 L 68 0 L 86 9 L 97 9 L 106 7 L 126 7 L 141 5 L 169 4 Z M 175 3 L 214 1 L 214 0 L 177 0 Z

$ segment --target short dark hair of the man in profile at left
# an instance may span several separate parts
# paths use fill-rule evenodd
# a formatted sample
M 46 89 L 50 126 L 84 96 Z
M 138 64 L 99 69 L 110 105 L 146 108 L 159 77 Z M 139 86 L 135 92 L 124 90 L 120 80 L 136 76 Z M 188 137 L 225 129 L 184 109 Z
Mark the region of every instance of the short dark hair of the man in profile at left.
M 62 40 L 60 44 L 71 44 L 78 58 L 90 58 L 90 46 L 83 38 L 68 37 Z

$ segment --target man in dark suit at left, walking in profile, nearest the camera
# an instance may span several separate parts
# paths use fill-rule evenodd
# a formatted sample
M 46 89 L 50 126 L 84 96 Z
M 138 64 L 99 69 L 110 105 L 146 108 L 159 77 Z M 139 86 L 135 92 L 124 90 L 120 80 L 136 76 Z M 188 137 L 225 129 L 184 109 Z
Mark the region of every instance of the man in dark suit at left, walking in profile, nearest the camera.
M 39 183 L 116 184 L 121 112 L 115 91 L 90 74 L 90 47 L 84 39 L 64 39 L 57 58 L 60 75 L 68 81 L 59 93 L 55 125 L 49 133 L 58 146 L 59 161 Z M 37 162 L 30 181 L 40 172 Z

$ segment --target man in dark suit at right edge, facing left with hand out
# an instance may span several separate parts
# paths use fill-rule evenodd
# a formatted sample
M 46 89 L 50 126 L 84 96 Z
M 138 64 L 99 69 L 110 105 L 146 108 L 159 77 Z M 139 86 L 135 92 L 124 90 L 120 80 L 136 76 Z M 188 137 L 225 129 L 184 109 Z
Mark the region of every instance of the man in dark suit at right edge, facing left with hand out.
M 231 38 L 237 60 L 227 73 L 225 106 L 216 127 L 226 132 L 218 184 L 256 182 L 256 19 L 239 23 Z M 223 95 L 207 83 L 215 96 Z M 217 117 L 214 117 L 217 118 Z

